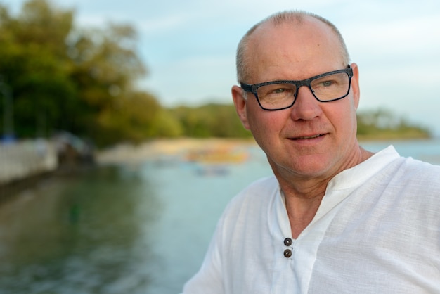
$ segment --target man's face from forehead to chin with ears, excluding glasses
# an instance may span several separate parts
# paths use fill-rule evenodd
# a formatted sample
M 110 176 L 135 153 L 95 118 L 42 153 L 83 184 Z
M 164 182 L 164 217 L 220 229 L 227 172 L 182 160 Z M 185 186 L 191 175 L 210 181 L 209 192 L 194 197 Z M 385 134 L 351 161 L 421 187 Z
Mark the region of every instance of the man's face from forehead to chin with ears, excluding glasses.
M 301 80 L 346 68 L 335 34 L 321 22 L 304 25 L 263 25 L 247 49 L 250 79 L 247 84 L 275 80 Z M 250 129 L 268 157 L 275 174 L 330 179 L 351 164 L 356 153 L 358 68 L 347 97 L 322 103 L 308 87 L 301 87 L 295 104 L 285 110 L 260 108 L 254 94 L 242 99 L 233 88 L 235 106 L 242 123 Z

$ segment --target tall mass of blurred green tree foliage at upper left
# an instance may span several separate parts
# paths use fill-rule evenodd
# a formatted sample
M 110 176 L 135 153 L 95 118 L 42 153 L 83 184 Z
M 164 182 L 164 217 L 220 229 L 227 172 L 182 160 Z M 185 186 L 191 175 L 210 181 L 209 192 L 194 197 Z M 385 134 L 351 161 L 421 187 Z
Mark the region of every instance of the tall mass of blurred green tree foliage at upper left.
M 46 0 L 16 16 L 0 6 L 0 82 L 13 92 L 15 135 L 63 129 L 101 144 L 154 134 L 150 113 L 160 105 L 134 87 L 146 73 L 136 41 L 130 25 L 77 27 L 73 10 Z

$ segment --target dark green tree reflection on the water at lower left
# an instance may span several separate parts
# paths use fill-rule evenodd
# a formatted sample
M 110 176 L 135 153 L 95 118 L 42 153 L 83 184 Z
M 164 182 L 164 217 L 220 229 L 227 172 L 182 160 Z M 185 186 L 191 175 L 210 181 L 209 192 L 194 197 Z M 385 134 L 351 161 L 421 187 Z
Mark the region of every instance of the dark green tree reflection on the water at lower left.
M 115 168 L 23 193 L 0 207 L 1 293 L 145 289 L 153 238 L 138 236 L 160 210 L 151 183 Z

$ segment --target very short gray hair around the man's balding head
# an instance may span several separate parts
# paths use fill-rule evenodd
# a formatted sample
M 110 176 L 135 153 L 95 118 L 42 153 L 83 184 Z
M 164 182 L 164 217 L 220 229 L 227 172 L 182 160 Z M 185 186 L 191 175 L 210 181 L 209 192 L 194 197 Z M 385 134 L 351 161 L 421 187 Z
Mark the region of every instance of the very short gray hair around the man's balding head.
M 326 20 L 325 18 L 316 15 L 314 13 L 309 13 L 305 11 L 283 11 L 280 13 L 276 13 L 273 15 L 270 15 L 268 18 L 265 18 L 264 20 L 261 20 L 259 23 L 254 25 L 246 32 L 246 34 L 242 37 L 240 40 L 240 43 L 238 43 L 237 48 L 237 59 L 236 59 L 236 65 L 237 65 L 237 79 L 238 82 L 245 82 L 246 79 L 249 78 L 250 72 L 249 68 L 249 58 L 250 56 L 247 54 L 247 44 L 250 41 L 250 36 L 252 33 L 257 30 L 258 27 L 265 23 L 272 23 L 273 25 L 283 25 L 283 24 L 292 24 L 292 23 L 304 23 L 304 19 L 310 16 L 312 18 L 316 18 L 317 20 L 320 20 L 321 22 L 325 23 L 325 25 L 328 25 L 330 29 L 335 32 L 337 38 L 339 39 L 339 46 L 341 50 L 342 60 L 343 62 L 348 65 L 350 62 L 350 56 L 349 52 L 347 50 L 347 46 L 345 44 L 344 38 L 342 37 L 341 32 L 337 29 L 335 25 L 330 23 L 329 20 Z

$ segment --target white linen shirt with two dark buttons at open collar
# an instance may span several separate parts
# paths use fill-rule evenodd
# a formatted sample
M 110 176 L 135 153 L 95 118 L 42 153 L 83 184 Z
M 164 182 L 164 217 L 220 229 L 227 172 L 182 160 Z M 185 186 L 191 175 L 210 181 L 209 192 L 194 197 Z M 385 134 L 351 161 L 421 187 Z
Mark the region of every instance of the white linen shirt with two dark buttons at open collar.
M 261 179 L 226 207 L 183 293 L 440 293 L 440 166 L 380 151 L 329 182 L 296 240 L 278 181 Z

